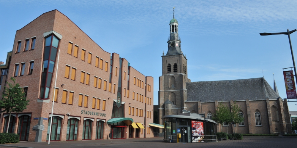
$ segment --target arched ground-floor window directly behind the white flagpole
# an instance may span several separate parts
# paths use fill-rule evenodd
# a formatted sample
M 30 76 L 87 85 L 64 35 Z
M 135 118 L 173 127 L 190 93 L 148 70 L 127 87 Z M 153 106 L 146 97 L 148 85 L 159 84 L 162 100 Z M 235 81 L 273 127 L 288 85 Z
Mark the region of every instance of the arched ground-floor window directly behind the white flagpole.
M 53 116 L 51 133 L 50 133 L 50 120 L 51 120 L 51 117 L 48 120 L 48 134 L 46 136 L 46 140 L 48 141 L 48 136 L 50 134 L 50 141 L 60 141 L 62 118 L 58 116 Z

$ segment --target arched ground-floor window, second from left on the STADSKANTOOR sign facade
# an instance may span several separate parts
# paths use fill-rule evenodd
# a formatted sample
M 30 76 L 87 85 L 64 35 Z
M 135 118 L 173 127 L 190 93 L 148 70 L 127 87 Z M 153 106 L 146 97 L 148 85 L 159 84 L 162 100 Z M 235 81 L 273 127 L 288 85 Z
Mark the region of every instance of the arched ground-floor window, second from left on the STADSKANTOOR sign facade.
M 66 140 L 77 140 L 77 129 L 78 119 L 68 119 Z

